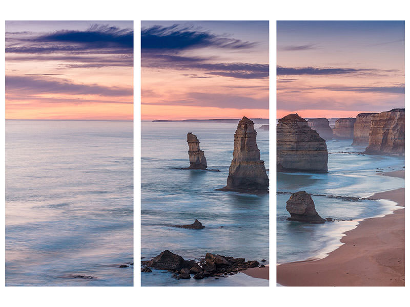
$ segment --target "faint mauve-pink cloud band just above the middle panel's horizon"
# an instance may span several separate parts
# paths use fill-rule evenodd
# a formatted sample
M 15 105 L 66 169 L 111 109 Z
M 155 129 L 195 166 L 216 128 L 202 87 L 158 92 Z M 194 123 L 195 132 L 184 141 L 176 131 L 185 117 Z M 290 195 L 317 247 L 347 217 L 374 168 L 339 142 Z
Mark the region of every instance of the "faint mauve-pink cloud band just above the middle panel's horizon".
M 247 108 L 247 109 L 269 109 L 269 97 L 256 99 L 251 97 L 236 96 L 220 93 L 188 93 L 178 100 L 158 100 L 155 103 L 144 103 L 149 105 L 189 105 L 208 106 L 219 108 Z

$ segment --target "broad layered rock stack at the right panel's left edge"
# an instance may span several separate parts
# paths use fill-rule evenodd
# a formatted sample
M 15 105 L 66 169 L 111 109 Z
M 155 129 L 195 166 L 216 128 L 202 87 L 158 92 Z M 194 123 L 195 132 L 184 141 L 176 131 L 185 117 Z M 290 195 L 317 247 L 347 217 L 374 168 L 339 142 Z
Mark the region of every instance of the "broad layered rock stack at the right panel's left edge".
M 327 172 L 326 142 L 297 114 L 278 121 L 276 128 L 277 171 Z

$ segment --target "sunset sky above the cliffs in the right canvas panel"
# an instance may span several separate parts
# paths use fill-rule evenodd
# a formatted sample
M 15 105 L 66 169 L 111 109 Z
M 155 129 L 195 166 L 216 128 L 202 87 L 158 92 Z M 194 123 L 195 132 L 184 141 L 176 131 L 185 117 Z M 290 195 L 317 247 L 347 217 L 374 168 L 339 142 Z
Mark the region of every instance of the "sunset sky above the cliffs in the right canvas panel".
M 404 21 L 277 21 L 277 118 L 404 107 Z

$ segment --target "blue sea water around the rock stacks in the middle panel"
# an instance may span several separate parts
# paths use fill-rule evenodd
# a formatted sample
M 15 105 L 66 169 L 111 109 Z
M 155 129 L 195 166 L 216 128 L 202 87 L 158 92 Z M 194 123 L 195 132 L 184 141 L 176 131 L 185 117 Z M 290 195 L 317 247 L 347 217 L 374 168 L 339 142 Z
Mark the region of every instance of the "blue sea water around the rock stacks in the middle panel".
M 269 131 L 259 126 L 255 124 L 257 143 L 269 168 Z M 185 259 L 211 252 L 269 260 L 269 195 L 215 191 L 227 183 L 236 127 L 228 123 L 141 123 L 142 260 L 166 249 Z M 189 166 L 188 132 L 198 137 L 208 168 L 220 172 L 178 169 Z M 205 228 L 171 227 L 192 224 L 195 219 Z M 171 275 L 160 270 L 141 273 L 141 285 L 268 286 L 268 280 L 243 273 L 217 280 L 175 280 Z

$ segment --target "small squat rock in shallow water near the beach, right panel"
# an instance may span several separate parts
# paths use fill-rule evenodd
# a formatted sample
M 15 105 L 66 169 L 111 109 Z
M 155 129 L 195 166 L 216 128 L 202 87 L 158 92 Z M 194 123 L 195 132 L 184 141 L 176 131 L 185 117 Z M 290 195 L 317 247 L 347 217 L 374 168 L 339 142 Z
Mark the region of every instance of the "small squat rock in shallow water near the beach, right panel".
M 286 210 L 291 214 L 291 217 L 288 218 L 290 221 L 324 223 L 324 219 L 316 212 L 311 195 L 305 191 L 293 193 L 286 202 Z

